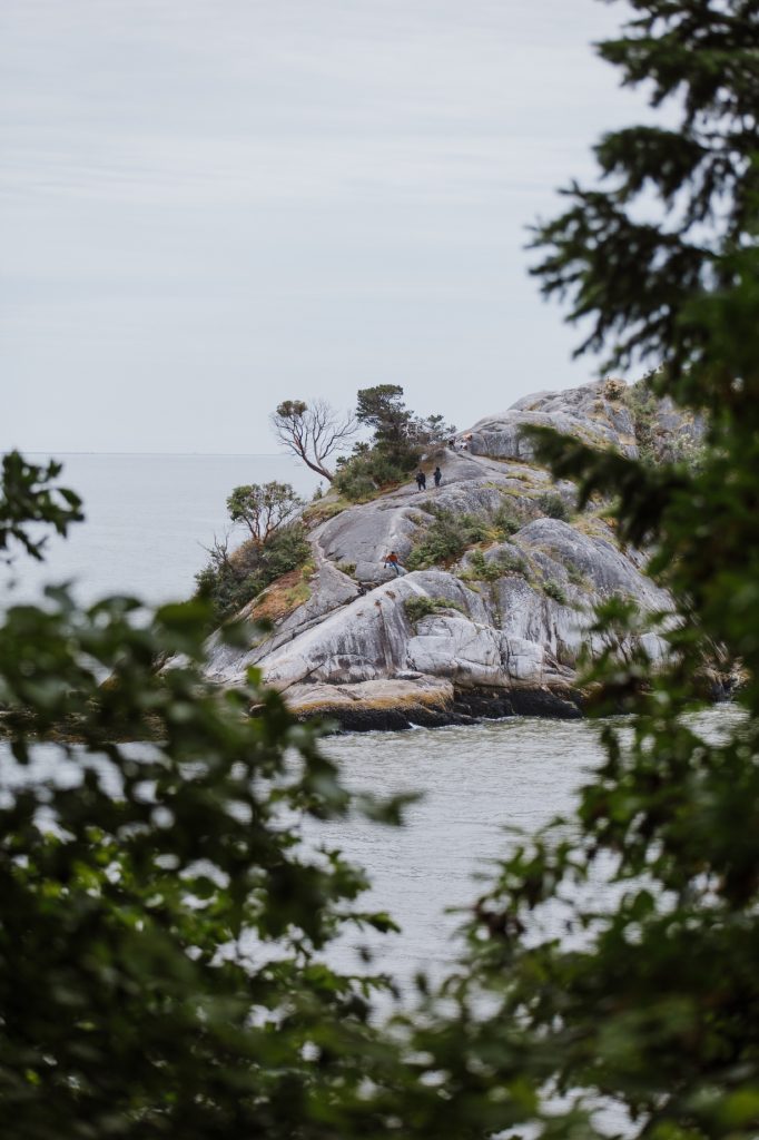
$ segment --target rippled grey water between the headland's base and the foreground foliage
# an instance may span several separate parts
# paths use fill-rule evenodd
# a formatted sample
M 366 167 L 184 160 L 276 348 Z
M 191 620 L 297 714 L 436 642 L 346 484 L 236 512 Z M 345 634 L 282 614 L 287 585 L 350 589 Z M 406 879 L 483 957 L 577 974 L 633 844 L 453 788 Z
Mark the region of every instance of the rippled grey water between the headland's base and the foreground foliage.
M 361 820 L 327 837 L 369 870 L 366 905 L 389 911 L 400 934 L 348 934 L 330 956 L 373 968 L 406 988 L 419 970 L 441 978 L 460 948 L 457 931 L 499 858 L 520 833 L 570 812 L 601 759 L 587 720 L 513 717 L 476 726 L 349 734 L 330 739 L 349 787 L 377 796 L 421 792 L 402 828 Z

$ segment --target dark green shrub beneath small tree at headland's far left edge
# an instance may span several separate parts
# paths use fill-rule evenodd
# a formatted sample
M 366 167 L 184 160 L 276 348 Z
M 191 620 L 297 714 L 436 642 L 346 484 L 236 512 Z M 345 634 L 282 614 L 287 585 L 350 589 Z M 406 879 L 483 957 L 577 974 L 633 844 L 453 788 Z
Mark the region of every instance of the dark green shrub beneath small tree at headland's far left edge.
M 218 622 L 237 613 L 270 583 L 304 565 L 311 556 L 305 530 L 300 522 L 278 530 L 263 546 L 250 539 L 231 554 L 217 544 L 206 565 L 195 576 L 196 596 L 213 603 Z

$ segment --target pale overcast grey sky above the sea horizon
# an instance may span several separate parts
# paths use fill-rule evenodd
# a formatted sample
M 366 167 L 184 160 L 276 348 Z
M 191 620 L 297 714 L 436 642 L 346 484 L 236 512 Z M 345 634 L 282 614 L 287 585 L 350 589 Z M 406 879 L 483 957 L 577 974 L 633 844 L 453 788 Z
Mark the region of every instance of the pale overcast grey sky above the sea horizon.
M 640 117 L 596 0 L 2 0 L 0 446 L 272 451 L 594 378 L 525 227 Z

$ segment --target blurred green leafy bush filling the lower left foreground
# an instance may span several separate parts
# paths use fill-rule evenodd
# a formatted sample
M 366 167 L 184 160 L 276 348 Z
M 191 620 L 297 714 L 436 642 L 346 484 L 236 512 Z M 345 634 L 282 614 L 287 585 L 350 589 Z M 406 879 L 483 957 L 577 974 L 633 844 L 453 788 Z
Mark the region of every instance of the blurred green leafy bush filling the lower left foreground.
M 15 505 L 22 544 L 44 504 Z M 206 603 L 144 617 L 58 588 L 1 629 L 2 1134 L 340 1133 L 385 983 L 320 952 L 346 923 L 392 928 L 318 845 L 348 796 L 254 671 L 204 681 Z

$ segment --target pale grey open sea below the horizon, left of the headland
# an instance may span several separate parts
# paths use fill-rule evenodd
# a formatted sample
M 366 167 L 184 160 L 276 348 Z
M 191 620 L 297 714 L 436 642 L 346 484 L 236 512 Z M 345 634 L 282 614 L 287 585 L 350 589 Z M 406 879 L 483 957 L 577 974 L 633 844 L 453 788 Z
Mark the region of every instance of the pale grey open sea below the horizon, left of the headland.
M 50 456 L 27 455 L 42 464 Z M 17 559 L 0 575 L 0 604 L 39 596 L 48 583 L 73 581 L 83 602 L 134 594 L 157 604 L 187 597 L 214 536 L 230 530 L 234 487 L 277 479 L 310 498 L 318 478 L 277 455 L 57 455 L 60 483 L 84 499 L 85 521 L 52 536 L 46 560 Z M 231 535 L 232 545 L 243 537 Z M 204 548 L 205 547 L 205 548 Z

